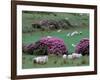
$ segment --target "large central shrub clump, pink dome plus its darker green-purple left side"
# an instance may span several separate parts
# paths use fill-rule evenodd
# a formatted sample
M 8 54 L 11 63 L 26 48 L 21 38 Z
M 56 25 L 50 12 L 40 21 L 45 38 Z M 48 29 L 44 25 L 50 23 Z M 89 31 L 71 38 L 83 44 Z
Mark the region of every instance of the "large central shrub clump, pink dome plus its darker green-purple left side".
M 35 44 L 30 44 L 24 47 L 24 52 L 37 53 L 37 54 L 56 54 L 63 55 L 67 51 L 64 41 L 59 38 L 44 37 L 37 41 Z

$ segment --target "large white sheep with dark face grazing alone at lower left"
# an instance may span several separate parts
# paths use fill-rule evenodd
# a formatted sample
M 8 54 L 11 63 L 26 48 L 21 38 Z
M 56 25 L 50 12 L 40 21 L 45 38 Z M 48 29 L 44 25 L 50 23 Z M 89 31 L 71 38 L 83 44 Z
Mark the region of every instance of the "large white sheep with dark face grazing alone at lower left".
M 48 56 L 39 56 L 39 57 L 33 58 L 33 62 L 38 63 L 38 64 L 45 64 L 48 62 Z

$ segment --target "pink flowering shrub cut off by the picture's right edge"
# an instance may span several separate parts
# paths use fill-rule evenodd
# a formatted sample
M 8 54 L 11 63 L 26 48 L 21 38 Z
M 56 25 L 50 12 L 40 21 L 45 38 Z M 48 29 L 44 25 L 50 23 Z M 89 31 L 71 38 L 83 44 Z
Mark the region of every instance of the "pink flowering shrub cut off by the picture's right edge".
M 76 53 L 81 53 L 82 55 L 89 54 L 89 39 L 83 38 L 75 47 Z

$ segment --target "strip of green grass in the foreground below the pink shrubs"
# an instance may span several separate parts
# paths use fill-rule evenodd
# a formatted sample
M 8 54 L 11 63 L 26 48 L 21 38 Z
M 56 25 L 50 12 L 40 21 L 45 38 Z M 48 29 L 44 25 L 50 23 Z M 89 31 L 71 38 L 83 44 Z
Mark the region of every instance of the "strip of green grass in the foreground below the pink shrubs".
M 33 62 L 35 55 L 23 55 L 22 68 L 53 68 L 53 67 L 70 67 L 70 66 L 88 66 L 89 56 L 83 56 L 79 59 L 66 59 L 63 60 L 62 57 L 50 56 L 48 57 L 48 62 L 46 64 L 36 64 Z

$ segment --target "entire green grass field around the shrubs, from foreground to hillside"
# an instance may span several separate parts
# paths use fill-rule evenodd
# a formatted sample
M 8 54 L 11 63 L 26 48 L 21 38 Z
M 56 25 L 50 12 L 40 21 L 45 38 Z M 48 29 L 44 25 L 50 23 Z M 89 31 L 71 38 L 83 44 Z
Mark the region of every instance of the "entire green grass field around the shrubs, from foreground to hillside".
M 70 29 L 62 29 L 61 32 L 57 32 L 57 30 L 50 30 L 50 31 L 40 31 L 37 30 L 35 32 L 28 32 L 22 34 L 22 42 L 25 44 L 34 43 L 37 40 L 40 40 L 42 37 L 45 36 L 52 36 L 58 37 L 64 40 L 69 53 L 74 52 L 74 47 L 72 44 L 77 44 L 82 38 L 89 38 L 89 16 L 87 15 L 73 15 L 67 13 L 55 13 L 54 14 L 40 14 L 40 13 L 24 13 L 22 15 L 22 30 L 32 30 L 32 23 L 41 19 L 62 19 L 62 18 L 69 18 L 72 24 L 77 23 L 79 27 L 74 27 Z M 85 23 L 82 25 L 82 23 Z M 73 31 L 81 31 L 82 34 L 75 35 L 73 37 L 67 37 L 67 34 Z M 37 55 L 29 55 L 29 54 L 22 54 L 22 68 L 47 68 L 47 67 L 69 67 L 69 66 L 87 66 L 89 65 L 89 56 L 83 56 L 80 59 L 70 60 L 66 59 L 66 63 L 64 63 L 63 59 L 58 56 L 49 56 L 49 60 L 46 64 L 34 64 L 32 59 Z

